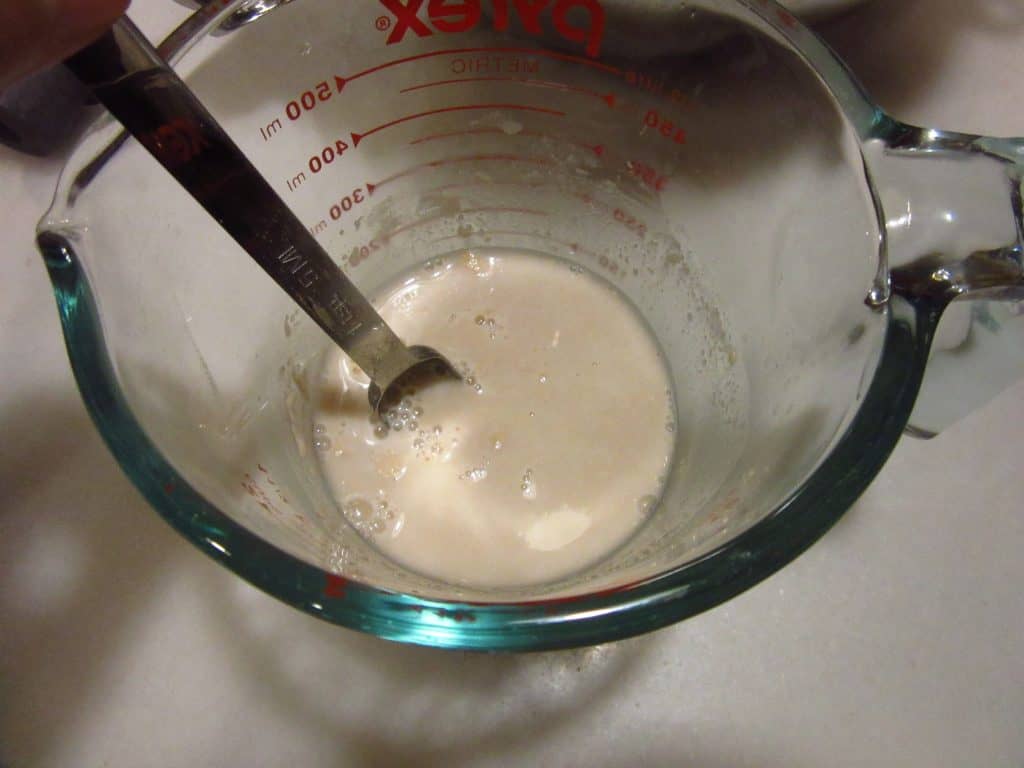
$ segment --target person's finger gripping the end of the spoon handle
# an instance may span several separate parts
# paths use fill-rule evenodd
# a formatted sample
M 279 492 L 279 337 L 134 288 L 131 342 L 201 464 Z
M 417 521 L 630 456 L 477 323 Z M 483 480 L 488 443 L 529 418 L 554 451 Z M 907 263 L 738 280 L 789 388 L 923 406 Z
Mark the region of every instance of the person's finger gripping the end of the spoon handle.
M 0 88 L 95 40 L 129 0 L 0 0 Z

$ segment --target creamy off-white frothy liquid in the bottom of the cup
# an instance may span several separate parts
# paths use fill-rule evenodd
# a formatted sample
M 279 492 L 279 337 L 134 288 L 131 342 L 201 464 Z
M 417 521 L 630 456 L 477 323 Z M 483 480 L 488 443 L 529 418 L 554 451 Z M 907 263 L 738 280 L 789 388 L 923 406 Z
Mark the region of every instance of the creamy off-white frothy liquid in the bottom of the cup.
M 385 430 L 367 377 L 330 353 L 313 440 L 377 548 L 450 583 L 515 587 L 592 564 L 645 520 L 673 454 L 671 384 L 613 288 L 563 261 L 476 251 L 374 303 L 465 376 L 404 398 Z

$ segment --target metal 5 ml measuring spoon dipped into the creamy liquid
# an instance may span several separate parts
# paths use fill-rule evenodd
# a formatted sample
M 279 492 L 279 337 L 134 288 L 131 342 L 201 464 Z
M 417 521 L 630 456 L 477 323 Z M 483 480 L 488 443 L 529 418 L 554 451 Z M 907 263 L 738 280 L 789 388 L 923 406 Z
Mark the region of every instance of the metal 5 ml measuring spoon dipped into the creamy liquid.
M 402 343 L 127 16 L 66 65 L 366 371 L 375 413 L 407 375 L 458 376 Z

